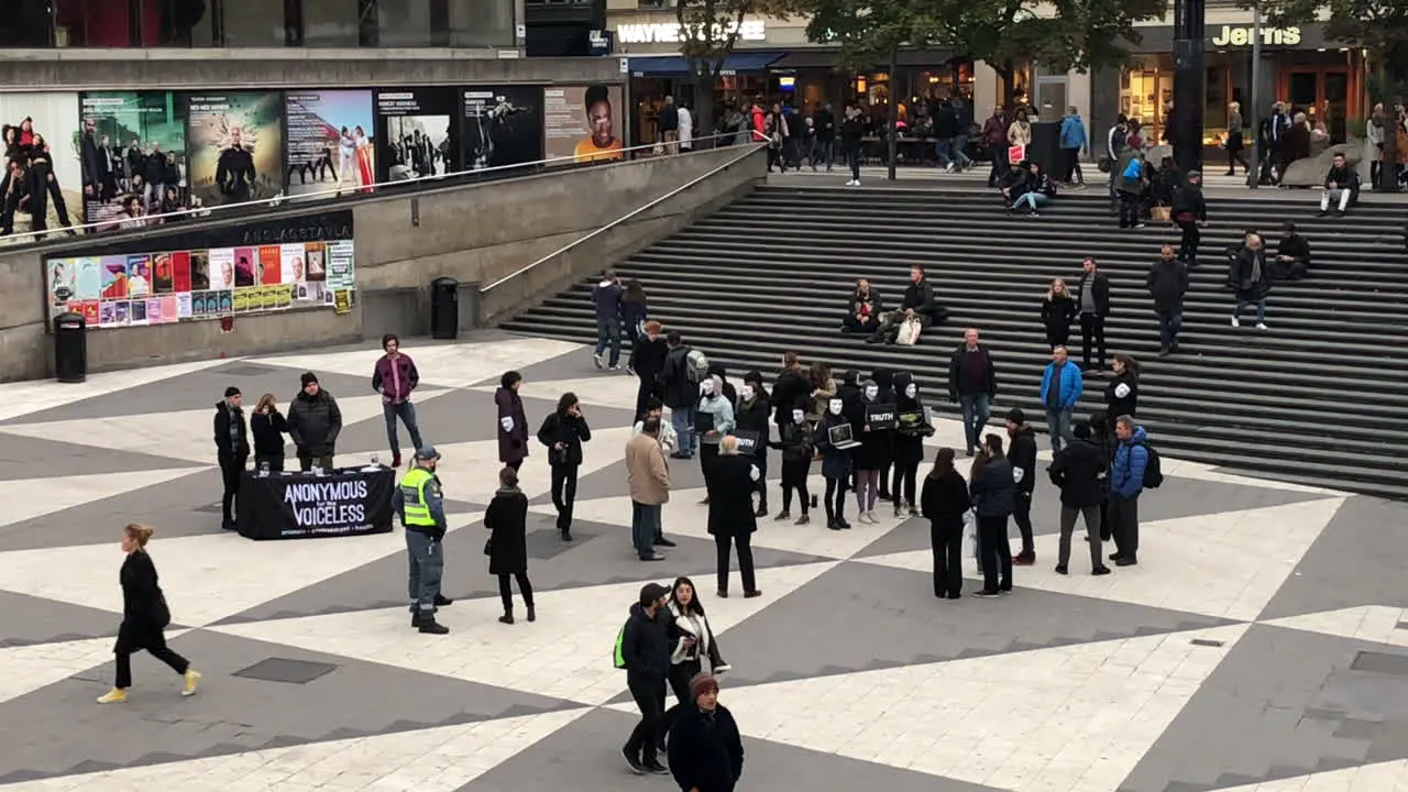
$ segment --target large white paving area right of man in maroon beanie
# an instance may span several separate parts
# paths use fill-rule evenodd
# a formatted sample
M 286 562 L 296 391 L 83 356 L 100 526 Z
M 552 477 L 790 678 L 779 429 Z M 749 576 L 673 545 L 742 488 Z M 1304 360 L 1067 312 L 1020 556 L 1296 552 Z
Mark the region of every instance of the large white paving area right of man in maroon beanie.
M 724 700 L 748 713 L 752 737 L 1017 792 L 1114 792 L 1245 630 L 777 682 Z

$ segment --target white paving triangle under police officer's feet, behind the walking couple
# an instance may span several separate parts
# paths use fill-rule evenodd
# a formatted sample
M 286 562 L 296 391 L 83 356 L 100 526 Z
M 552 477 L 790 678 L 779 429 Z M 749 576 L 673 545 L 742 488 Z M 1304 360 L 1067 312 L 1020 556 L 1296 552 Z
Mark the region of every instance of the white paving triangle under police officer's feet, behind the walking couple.
M 729 627 L 797 590 L 834 564 L 807 564 L 758 571 L 765 592 L 756 599 L 710 598 L 710 624 L 721 636 L 728 657 Z M 528 571 L 529 578 L 532 569 Z M 665 572 L 662 571 L 662 575 Z M 459 600 L 439 612 L 451 629 L 446 637 L 420 636 L 407 627 L 406 609 L 335 613 L 214 627 L 232 636 L 280 643 L 496 685 L 589 705 L 600 705 L 625 691 L 625 672 L 611 664 L 611 643 L 641 593 L 641 582 L 534 592 L 538 620 L 500 624 L 498 598 Z M 659 582 L 669 585 L 665 576 Z M 570 671 L 566 671 L 570 669 Z

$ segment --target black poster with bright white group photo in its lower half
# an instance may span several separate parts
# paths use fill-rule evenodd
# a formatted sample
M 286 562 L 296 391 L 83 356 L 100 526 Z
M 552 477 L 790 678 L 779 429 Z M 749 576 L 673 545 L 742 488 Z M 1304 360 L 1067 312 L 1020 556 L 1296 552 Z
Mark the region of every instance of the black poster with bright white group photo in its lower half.
M 404 182 L 458 172 L 458 110 L 453 87 L 377 90 L 377 180 Z

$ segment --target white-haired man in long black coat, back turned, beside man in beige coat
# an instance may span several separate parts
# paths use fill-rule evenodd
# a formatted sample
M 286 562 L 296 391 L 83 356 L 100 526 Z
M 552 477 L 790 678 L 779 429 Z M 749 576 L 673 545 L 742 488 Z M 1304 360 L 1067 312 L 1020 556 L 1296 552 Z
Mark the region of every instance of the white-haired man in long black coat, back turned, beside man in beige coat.
M 758 466 L 738 454 L 738 438 L 725 435 L 718 444 L 718 458 L 704 469 L 708 488 L 708 533 L 718 551 L 718 596 L 728 598 L 731 547 L 738 548 L 738 574 L 743 578 L 743 598 L 762 595 L 753 575 L 752 536 L 758 530 L 753 513 L 753 488 L 760 479 Z

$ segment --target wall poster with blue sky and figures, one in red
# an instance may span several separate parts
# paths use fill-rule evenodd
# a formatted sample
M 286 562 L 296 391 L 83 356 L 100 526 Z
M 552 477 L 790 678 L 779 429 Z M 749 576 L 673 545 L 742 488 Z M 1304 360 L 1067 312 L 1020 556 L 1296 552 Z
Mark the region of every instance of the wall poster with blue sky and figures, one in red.
M 284 96 L 289 194 L 370 192 L 376 183 L 376 124 L 370 90 L 310 90 Z

